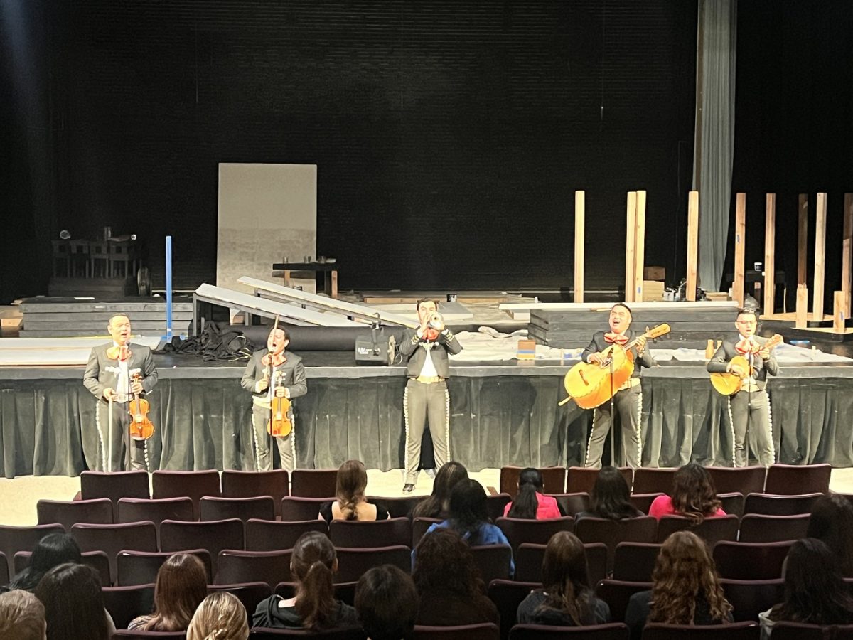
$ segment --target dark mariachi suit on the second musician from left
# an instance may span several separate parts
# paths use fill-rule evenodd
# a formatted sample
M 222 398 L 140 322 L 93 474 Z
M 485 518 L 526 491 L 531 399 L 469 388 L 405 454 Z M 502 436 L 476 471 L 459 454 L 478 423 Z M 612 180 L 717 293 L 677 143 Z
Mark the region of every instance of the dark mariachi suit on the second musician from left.
M 264 377 L 264 371 L 270 367 L 264 367 L 261 360 L 269 352 L 269 349 L 261 349 L 252 353 L 246 369 L 243 371 L 241 386 L 252 392 L 252 433 L 255 440 L 255 461 L 258 471 L 269 471 L 272 468 L 272 457 L 270 456 L 269 439 L 267 433 L 267 422 L 270 422 L 270 393 L 269 389 L 258 392 L 258 381 Z M 285 357 L 283 363 L 276 367 L 275 380 L 270 380 L 270 386 L 285 387 L 288 390 L 288 398 L 293 400 L 308 393 L 308 383 L 305 378 L 305 366 L 302 358 L 295 353 L 283 352 Z M 281 468 L 293 471 L 296 466 L 296 422 L 293 418 L 293 407 L 290 410 L 290 421 L 293 429 L 284 438 L 276 438 L 278 453 L 281 456 Z

